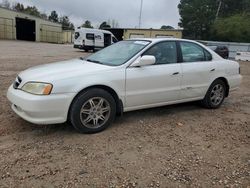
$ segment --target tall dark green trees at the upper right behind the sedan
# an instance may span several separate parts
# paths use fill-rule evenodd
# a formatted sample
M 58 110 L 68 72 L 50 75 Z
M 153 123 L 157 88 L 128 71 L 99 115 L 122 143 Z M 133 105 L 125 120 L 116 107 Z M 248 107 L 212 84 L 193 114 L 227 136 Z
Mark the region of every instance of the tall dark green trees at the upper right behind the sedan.
M 178 8 L 185 38 L 250 42 L 249 0 L 181 0 Z

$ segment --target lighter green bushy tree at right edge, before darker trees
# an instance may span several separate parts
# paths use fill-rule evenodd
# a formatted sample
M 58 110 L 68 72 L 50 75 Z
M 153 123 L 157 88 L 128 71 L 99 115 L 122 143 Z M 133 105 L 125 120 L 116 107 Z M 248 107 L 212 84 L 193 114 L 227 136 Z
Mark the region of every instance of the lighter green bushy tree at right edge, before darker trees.
M 250 42 L 250 15 L 236 14 L 219 18 L 212 26 L 214 40 L 231 42 Z

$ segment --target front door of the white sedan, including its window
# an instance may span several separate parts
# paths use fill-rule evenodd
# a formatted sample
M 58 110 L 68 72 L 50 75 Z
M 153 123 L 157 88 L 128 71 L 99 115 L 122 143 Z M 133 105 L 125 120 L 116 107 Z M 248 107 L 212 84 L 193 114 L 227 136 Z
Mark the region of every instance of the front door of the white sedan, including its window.
M 143 55 L 155 56 L 156 62 L 126 69 L 125 108 L 140 109 L 179 100 L 182 72 L 176 42 L 157 43 Z

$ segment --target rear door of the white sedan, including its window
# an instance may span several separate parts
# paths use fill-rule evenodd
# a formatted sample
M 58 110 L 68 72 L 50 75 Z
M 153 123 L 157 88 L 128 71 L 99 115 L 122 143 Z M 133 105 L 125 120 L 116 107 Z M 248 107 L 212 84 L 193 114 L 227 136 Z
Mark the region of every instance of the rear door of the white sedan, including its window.
M 206 94 L 216 74 L 216 63 L 212 55 L 193 42 L 179 42 L 182 68 L 181 98 L 200 99 Z

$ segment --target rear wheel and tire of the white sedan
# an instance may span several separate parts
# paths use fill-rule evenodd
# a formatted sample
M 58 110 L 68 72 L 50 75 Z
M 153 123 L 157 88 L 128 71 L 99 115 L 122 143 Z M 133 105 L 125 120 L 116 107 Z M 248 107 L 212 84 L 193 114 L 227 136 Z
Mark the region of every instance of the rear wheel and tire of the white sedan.
M 224 81 L 217 79 L 209 87 L 204 99 L 203 106 L 209 109 L 216 109 L 221 106 L 226 95 L 226 84 Z

